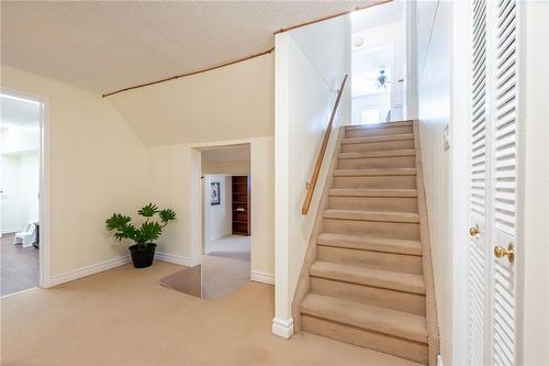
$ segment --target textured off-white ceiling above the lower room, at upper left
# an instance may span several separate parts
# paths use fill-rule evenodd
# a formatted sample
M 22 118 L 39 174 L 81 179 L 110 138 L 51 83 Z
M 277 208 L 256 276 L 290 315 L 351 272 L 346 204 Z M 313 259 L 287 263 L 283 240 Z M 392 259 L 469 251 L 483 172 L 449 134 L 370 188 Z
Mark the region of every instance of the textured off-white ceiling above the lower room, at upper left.
M 2 64 L 105 93 L 273 46 L 273 32 L 379 1 L 2 1 Z

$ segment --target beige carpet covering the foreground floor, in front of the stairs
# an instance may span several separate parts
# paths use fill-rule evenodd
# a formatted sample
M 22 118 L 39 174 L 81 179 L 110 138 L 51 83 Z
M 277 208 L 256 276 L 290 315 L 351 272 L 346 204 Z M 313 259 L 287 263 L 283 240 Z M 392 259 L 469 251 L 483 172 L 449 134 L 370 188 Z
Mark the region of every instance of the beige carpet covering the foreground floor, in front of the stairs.
M 269 285 L 215 300 L 158 286 L 179 268 L 125 265 L 1 299 L 2 365 L 415 365 L 312 334 L 272 335 Z

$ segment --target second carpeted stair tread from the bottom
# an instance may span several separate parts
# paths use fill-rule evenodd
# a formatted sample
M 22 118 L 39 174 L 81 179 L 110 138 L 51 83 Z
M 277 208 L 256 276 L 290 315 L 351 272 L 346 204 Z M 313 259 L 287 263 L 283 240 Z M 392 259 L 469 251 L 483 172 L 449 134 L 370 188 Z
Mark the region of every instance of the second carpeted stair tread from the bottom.
M 330 262 L 315 262 L 311 266 L 311 276 L 425 295 L 425 281 L 422 275 Z

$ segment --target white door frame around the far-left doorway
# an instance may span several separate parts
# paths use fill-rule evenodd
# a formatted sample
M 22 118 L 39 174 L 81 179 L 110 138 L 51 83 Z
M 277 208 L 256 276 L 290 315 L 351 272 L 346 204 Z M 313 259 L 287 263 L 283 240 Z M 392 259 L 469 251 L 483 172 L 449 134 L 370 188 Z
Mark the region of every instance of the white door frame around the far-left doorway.
M 52 270 L 52 226 L 51 226 L 51 119 L 49 99 L 26 91 L 2 87 L 1 93 L 33 100 L 42 104 L 40 120 L 40 188 L 38 188 L 38 212 L 40 212 L 40 251 L 38 251 L 38 287 L 51 287 Z

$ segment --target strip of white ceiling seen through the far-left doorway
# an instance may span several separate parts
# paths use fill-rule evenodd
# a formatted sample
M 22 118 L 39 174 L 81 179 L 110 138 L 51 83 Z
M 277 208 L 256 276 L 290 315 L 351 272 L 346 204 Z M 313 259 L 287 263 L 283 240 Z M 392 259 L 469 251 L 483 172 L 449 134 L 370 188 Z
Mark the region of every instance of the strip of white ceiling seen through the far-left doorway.
M 41 104 L 7 95 L 0 95 L 1 126 L 40 126 Z

